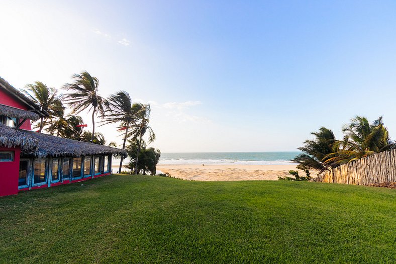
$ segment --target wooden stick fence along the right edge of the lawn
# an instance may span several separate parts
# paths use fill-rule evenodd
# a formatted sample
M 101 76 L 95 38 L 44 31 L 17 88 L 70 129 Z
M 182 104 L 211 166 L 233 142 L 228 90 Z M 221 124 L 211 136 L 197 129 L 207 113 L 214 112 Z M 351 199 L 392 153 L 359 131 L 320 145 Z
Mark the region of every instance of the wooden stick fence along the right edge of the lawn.
M 354 185 L 396 182 L 396 149 L 341 165 L 320 174 L 314 181 Z

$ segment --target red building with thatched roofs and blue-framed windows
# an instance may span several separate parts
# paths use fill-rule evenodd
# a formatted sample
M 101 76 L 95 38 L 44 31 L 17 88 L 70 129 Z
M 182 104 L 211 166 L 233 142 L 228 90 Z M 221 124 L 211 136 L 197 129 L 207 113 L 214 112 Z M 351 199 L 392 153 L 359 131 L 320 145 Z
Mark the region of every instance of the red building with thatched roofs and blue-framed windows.
M 0 196 L 111 173 L 122 149 L 31 131 L 48 114 L 0 77 Z

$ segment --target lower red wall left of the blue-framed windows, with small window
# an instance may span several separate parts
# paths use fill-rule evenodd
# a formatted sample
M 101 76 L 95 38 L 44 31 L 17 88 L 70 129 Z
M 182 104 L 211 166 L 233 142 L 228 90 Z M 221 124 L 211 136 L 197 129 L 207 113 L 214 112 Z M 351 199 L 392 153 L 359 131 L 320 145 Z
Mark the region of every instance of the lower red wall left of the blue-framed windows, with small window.
M 0 162 L 0 196 L 18 194 L 21 149 L 0 147 L 0 151 L 15 151 L 14 161 Z

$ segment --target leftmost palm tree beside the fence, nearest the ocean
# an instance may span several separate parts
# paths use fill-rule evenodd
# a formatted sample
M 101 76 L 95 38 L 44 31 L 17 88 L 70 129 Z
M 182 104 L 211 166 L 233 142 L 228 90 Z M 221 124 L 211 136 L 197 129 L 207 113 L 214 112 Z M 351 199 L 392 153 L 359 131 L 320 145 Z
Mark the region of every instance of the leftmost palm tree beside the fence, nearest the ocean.
M 311 135 L 315 136 L 315 139 L 306 140 L 304 146 L 298 148 L 304 153 L 297 155 L 292 161 L 298 163 L 297 167 L 303 170 L 315 169 L 323 172 L 334 167 L 335 164 L 328 160 L 329 154 L 337 152 L 333 131 L 321 127 L 319 132 L 313 132 Z

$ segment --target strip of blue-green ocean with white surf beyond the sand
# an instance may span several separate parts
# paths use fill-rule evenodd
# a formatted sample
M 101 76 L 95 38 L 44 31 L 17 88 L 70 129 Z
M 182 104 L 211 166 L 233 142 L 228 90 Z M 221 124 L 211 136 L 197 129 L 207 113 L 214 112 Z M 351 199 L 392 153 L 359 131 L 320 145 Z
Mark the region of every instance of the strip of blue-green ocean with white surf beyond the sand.
M 300 154 L 289 152 L 190 152 L 162 153 L 161 164 L 257 164 L 276 165 L 294 164 L 290 159 Z

